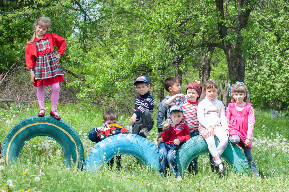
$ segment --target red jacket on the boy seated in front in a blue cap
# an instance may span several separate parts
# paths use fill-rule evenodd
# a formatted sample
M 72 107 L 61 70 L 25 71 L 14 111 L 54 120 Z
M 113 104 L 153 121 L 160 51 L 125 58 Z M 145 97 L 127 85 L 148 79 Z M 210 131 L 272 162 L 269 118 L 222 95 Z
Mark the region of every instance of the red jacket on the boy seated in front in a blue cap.
M 189 127 L 185 121 L 181 120 L 179 124 L 170 125 L 168 129 L 163 129 L 161 141 L 164 141 L 168 145 L 174 145 L 174 140 L 179 139 L 181 142 L 178 145 L 179 147 L 181 146 L 182 143 L 188 141 L 188 139 L 190 138 L 191 136 L 190 136 Z

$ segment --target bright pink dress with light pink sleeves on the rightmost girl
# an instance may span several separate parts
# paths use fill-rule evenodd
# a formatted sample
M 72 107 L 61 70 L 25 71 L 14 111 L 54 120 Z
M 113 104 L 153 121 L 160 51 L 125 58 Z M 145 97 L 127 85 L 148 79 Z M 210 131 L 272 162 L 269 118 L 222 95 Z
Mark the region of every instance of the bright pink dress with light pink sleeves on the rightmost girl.
M 239 111 L 237 108 L 242 108 L 242 110 Z M 240 141 L 244 145 L 246 139 L 251 141 L 255 123 L 252 104 L 246 103 L 246 105 L 239 107 L 236 106 L 236 103 L 229 103 L 226 116 L 230 136 L 235 134 L 238 135 L 240 137 Z M 238 143 L 238 145 L 242 147 L 240 143 Z M 248 148 L 252 149 L 252 145 L 249 145 Z

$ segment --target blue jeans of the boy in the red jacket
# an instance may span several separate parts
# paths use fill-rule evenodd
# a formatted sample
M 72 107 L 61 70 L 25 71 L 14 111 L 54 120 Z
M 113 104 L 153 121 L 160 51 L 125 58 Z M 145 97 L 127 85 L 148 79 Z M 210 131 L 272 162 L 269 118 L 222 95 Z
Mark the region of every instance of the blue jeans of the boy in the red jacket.
M 179 176 L 176 161 L 176 153 L 178 149 L 179 147 L 177 145 L 168 145 L 164 141 L 161 141 L 158 145 L 161 176 L 166 176 L 167 167 L 170 168 L 173 176 Z

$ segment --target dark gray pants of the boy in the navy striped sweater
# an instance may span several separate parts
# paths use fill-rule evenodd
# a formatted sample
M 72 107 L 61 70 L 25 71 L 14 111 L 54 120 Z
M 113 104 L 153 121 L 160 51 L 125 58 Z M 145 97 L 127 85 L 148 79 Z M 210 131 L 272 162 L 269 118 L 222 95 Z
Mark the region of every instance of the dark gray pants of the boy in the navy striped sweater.
M 140 129 L 148 129 L 149 131 L 153 128 L 153 119 L 151 119 L 151 112 L 146 109 L 142 114 L 140 114 L 140 120 L 134 124 L 132 128 L 133 134 L 139 134 Z

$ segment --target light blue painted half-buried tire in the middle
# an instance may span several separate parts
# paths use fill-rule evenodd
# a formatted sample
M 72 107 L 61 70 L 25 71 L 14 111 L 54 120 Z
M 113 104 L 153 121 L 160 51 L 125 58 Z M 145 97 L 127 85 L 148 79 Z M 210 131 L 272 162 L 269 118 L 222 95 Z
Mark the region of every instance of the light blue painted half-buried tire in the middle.
M 158 171 L 158 148 L 149 140 L 136 134 L 116 134 L 98 142 L 84 161 L 84 170 L 99 171 L 100 165 L 117 155 L 132 155 L 145 165 Z

